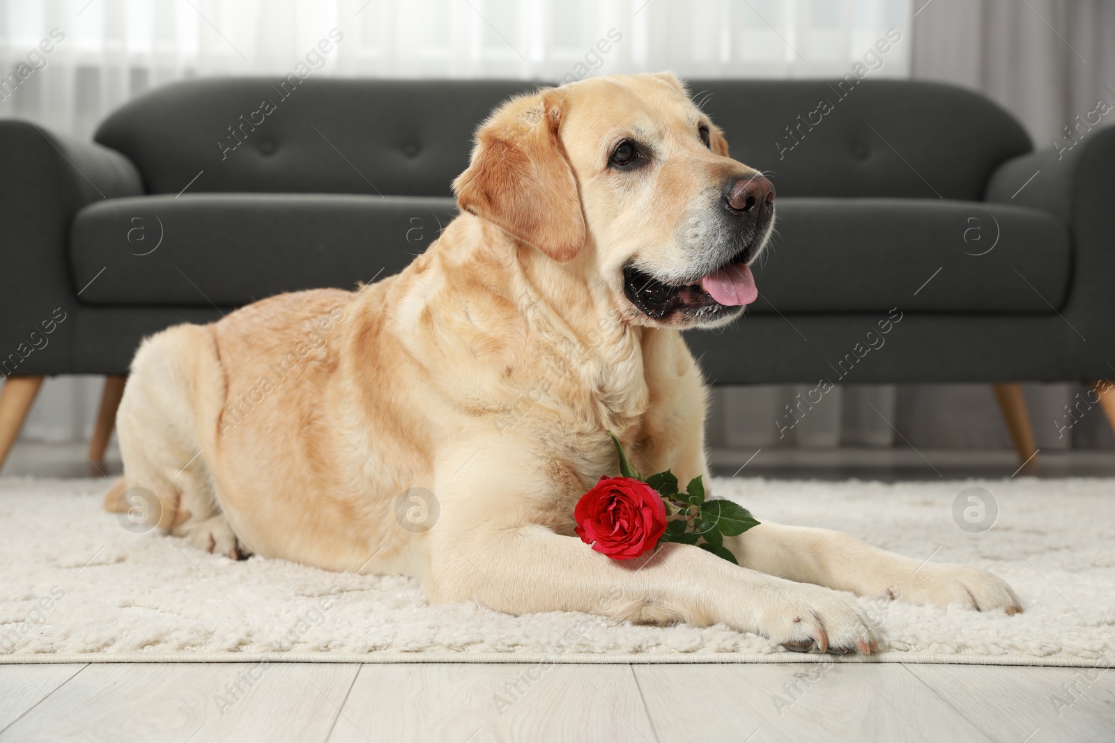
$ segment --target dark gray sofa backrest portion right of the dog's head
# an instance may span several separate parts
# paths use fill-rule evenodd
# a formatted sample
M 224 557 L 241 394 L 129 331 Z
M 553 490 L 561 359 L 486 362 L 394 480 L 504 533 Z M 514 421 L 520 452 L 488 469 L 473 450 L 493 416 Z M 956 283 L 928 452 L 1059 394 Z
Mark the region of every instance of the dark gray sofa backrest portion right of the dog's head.
M 778 196 L 979 201 L 1000 163 L 1030 150 L 980 94 L 924 80 L 692 80 L 731 157 Z

